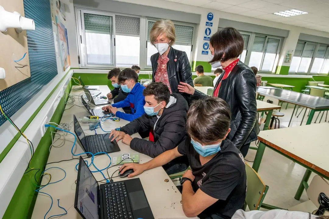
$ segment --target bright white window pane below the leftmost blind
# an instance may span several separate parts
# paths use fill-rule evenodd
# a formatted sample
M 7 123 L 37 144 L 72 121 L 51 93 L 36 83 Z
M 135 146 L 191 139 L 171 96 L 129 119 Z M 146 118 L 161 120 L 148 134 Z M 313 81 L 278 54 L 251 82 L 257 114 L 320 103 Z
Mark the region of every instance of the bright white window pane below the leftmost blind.
M 85 35 L 88 64 L 112 64 L 111 34 L 86 32 Z

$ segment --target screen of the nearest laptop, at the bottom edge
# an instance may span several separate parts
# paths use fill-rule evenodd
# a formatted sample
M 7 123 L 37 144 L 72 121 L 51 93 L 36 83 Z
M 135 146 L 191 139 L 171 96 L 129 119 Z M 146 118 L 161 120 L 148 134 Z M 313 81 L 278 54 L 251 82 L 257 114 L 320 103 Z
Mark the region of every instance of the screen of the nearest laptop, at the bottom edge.
M 86 219 L 99 219 L 97 181 L 90 172 L 88 166 L 80 157 L 77 189 L 78 195 L 75 197 L 76 209 L 80 211 Z

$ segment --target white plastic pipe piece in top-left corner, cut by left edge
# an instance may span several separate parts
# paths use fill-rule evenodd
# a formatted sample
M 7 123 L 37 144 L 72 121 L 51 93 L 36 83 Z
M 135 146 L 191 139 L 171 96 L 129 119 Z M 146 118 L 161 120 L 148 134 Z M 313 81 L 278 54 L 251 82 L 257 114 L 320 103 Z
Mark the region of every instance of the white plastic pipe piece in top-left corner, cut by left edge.
M 22 16 L 6 11 L 0 6 L 0 31 L 6 32 L 8 28 L 21 28 Z

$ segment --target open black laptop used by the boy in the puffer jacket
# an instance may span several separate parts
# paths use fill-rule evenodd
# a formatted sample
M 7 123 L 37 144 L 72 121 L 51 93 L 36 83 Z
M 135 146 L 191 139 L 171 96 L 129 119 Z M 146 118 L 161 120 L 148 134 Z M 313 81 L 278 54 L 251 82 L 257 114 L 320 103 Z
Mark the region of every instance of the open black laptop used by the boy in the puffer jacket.
M 112 153 L 120 151 L 119 145 L 116 141 L 111 142 L 112 138 L 109 139 L 110 133 L 86 136 L 79 124 L 79 121 L 74 115 L 73 122 L 74 132 L 85 152 L 96 154 L 98 152 Z M 90 154 L 87 155 L 88 157 L 91 157 Z

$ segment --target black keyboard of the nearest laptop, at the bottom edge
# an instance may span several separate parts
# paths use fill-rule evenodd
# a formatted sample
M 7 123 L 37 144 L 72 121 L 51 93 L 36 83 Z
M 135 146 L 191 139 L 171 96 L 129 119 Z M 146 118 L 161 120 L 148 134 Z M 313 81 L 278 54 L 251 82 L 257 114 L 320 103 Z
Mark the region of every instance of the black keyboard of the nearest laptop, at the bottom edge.
M 105 185 L 105 201 L 108 219 L 134 218 L 124 182 Z

